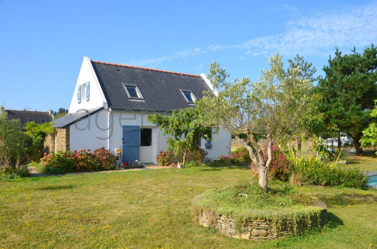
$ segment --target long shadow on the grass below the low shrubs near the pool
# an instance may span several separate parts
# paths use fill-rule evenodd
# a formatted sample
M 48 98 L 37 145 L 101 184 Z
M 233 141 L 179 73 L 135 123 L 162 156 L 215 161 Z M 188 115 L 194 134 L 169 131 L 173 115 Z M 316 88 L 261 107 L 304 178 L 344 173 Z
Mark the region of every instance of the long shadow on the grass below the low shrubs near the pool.
M 373 194 L 360 193 L 343 193 L 339 192 L 335 195 L 326 195 L 324 193 L 316 194 L 316 197 L 324 202 L 327 206 L 348 206 L 360 203 L 377 202 L 377 196 Z

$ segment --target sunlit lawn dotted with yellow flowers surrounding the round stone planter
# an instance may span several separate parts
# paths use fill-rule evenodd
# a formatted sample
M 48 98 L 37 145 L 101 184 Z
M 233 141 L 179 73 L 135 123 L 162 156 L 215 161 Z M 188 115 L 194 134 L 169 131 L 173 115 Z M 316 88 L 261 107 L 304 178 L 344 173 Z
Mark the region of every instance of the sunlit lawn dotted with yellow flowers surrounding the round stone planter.
M 328 205 L 329 225 L 279 241 L 228 238 L 192 222 L 197 194 L 250 181 L 248 168 L 210 167 L 1 181 L 0 248 L 377 247 L 377 190 L 300 187 Z

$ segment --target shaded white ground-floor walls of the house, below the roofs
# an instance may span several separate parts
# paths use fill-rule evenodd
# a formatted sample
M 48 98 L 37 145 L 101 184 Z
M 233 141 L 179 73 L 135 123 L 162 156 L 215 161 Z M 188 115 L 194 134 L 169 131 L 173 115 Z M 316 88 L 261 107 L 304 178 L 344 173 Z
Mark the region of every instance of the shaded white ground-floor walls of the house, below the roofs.
M 79 149 L 98 149 L 105 147 L 113 151 L 116 148 L 122 148 L 123 145 L 123 126 L 137 125 L 140 127 L 155 127 L 147 120 L 147 115 L 150 113 L 140 112 L 110 112 L 110 129 L 107 129 L 108 115 L 107 109 L 100 110 L 96 114 L 78 121 L 76 124 L 70 126 L 70 150 Z M 90 120 L 90 128 L 88 127 L 88 120 Z M 97 121 L 96 121 L 97 120 Z M 104 130 L 106 129 L 106 130 Z M 108 137 L 109 133 L 109 147 Z M 160 150 L 167 149 L 167 136 L 162 135 L 163 131 L 158 128 L 152 130 L 153 143 L 153 157 L 156 163 L 155 156 Z M 106 138 L 105 140 L 101 138 Z M 213 134 L 213 143 L 211 149 L 206 149 L 207 157 L 217 159 L 220 155 L 230 155 L 230 134 L 219 131 L 218 134 Z M 202 139 L 201 147 L 205 149 L 205 141 Z

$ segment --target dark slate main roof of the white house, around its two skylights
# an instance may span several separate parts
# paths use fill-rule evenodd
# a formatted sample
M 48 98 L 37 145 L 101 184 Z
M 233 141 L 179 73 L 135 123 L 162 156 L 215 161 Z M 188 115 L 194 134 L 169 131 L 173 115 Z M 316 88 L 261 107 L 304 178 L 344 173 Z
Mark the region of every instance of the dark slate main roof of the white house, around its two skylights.
M 190 107 L 179 89 L 191 90 L 196 99 L 210 91 L 200 75 L 176 73 L 91 61 L 107 104 L 113 109 L 172 111 Z M 130 100 L 122 83 L 136 84 L 144 101 Z

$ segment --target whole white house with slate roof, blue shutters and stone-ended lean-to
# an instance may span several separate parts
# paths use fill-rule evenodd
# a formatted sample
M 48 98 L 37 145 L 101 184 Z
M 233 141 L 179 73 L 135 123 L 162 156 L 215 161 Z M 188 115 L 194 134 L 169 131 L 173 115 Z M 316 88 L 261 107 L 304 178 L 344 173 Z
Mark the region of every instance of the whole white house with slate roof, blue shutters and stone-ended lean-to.
M 72 86 L 73 87 L 73 86 Z M 194 75 L 107 62 L 84 57 L 69 114 L 54 120 L 55 151 L 121 150 L 121 161 L 156 163 L 167 137 L 147 120 L 153 113 L 193 106 L 203 91 L 217 94 L 205 74 Z M 198 139 L 208 158 L 230 154 L 230 134 Z

